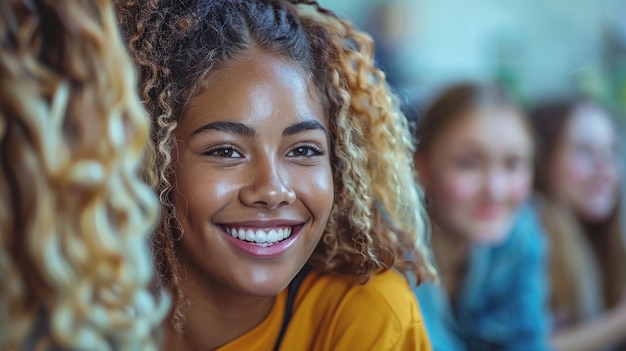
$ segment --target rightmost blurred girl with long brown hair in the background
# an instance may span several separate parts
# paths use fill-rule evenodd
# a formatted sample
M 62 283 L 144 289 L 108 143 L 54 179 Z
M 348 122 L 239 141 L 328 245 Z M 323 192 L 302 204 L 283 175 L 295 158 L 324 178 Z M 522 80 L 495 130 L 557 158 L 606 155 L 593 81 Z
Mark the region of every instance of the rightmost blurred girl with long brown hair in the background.
M 554 345 L 569 351 L 624 344 L 623 175 L 615 125 L 585 99 L 544 103 L 532 121 L 540 150 L 538 206 L 553 248 Z

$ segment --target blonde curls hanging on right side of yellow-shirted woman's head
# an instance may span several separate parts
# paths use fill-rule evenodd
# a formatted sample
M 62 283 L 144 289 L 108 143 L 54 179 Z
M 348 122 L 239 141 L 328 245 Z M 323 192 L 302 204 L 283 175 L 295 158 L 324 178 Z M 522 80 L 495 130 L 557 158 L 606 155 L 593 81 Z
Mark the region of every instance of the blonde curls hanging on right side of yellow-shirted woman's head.
M 296 11 L 305 27 L 325 37 L 312 50 L 325 53 L 332 83 L 326 95 L 337 106 L 331 117 L 335 204 L 310 263 L 361 283 L 392 267 L 412 271 L 418 283 L 435 278 L 412 137 L 384 74 L 374 67 L 371 37 L 314 1 Z

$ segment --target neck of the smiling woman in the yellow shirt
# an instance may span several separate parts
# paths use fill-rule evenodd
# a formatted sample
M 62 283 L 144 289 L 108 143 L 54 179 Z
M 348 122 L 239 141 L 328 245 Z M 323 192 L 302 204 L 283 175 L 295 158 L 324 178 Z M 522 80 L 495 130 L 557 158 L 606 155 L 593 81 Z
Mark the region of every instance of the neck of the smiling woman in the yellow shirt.
M 274 296 L 237 294 L 219 283 L 187 280 L 183 335 L 176 336 L 169 321 L 165 326 L 163 350 L 213 350 L 237 339 L 261 323 L 274 304 Z

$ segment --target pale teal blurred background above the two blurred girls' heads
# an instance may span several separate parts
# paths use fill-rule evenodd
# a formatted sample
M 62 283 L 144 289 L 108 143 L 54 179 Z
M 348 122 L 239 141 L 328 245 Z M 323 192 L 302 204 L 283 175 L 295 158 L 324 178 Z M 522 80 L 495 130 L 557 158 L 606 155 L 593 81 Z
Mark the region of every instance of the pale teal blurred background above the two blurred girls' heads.
M 626 0 L 320 0 L 376 40 L 405 102 L 464 79 L 527 103 L 585 92 L 626 113 Z

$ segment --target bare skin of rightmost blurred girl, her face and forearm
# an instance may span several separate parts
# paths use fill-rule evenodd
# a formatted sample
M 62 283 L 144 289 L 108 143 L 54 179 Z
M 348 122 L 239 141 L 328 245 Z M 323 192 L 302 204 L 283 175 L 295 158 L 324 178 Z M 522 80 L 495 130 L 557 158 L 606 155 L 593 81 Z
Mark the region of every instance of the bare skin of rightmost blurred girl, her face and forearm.
M 549 157 L 551 196 L 588 223 L 606 221 L 617 206 L 621 179 L 618 136 L 602 108 L 583 103 L 574 108 Z M 558 330 L 559 351 L 611 348 L 626 332 L 626 295 L 592 320 Z

